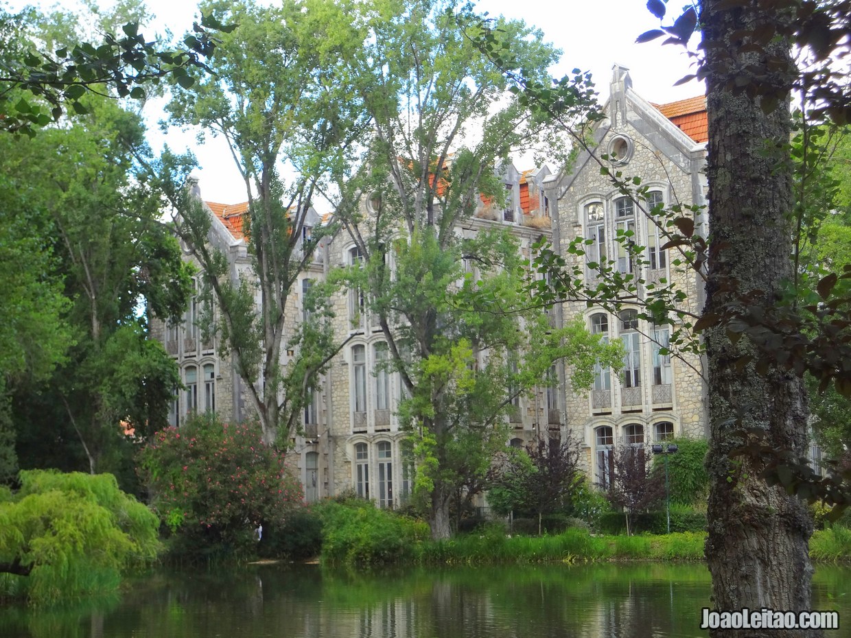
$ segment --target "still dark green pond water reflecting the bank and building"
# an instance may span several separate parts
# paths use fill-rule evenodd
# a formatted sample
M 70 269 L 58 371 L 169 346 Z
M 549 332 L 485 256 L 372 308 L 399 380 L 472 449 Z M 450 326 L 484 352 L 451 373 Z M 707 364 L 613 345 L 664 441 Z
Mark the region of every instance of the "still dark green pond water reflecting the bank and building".
M 851 568 L 820 567 L 814 607 L 851 625 Z M 0 608 L 3 638 L 691 638 L 703 565 L 412 568 L 249 565 L 153 572 L 62 610 Z M 840 632 L 836 632 L 837 636 Z M 834 633 L 834 632 L 829 632 Z

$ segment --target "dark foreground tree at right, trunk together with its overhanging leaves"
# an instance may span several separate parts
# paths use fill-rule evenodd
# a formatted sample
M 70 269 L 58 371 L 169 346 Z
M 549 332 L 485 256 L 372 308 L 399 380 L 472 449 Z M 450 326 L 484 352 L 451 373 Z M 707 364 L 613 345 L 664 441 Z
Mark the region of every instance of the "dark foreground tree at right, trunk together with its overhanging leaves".
M 665 17 L 663 2 L 653 0 L 648 9 Z M 840 277 L 848 277 L 848 266 L 818 282 L 820 303 L 799 303 L 797 272 L 788 259 L 801 219 L 792 196 L 790 94 L 794 88 L 802 96 L 807 117 L 848 122 L 847 74 L 831 64 L 831 55 L 847 54 L 849 9 L 838 0 L 770 8 L 705 0 L 700 16 L 698 8 L 687 7 L 671 26 L 638 38 L 686 44 L 698 24 L 703 33 L 696 76 L 708 87 L 711 242 L 707 247 L 680 215 L 671 218 L 677 230 L 666 236 L 669 248 L 686 247 L 683 257 L 695 270 L 703 271 L 710 258 L 705 310 L 686 328 L 705 334 L 709 367 L 706 556 L 720 609 L 807 609 L 812 524 L 794 493 L 828 504 L 851 502 L 839 478 L 814 479 L 799 460 L 807 443 L 802 374 L 812 373 L 822 390 L 833 382 L 851 393 L 848 371 L 839 363 L 848 356 L 848 299 L 832 294 Z M 483 49 L 504 60 L 497 40 L 488 34 Z M 801 69 L 791 58 L 793 43 L 803 52 Z M 557 120 L 566 107 L 582 102 L 582 84 L 569 78 L 541 85 L 513 77 L 518 91 Z M 574 139 L 584 141 L 580 134 Z M 612 177 L 623 191 L 633 191 L 619 174 Z M 641 192 L 635 194 L 641 208 Z M 558 259 L 549 265 L 554 281 L 569 278 Z M 556 288 L 562 295 L 574 289 Z M 657 296 L 646 307 L 658 317 L 672 306 Z M 700 351 L 700 342 L 691 343 Z M 724 632 L 745 634 L 775 632 Z

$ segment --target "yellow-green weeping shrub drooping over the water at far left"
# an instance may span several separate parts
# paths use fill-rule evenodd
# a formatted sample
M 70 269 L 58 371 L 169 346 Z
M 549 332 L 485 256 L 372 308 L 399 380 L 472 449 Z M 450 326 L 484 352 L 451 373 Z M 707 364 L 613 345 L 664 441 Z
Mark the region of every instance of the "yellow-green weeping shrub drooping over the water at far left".
M 0 571 L 31 569 L 33 603 L 108 590 L 132 565 L 157 556 L 157 517 L 114 476 L 22 470 L 20 491 L 0 502 Z

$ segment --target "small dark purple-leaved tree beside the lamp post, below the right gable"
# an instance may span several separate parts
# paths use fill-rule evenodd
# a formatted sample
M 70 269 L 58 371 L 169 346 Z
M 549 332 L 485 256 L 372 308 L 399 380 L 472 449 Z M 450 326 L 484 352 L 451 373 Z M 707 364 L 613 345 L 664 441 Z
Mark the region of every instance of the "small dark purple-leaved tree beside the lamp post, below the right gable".
M 621 445 L 614 451 L 612 484 L 606 492 L 609 503 L 623 508 L 626 533 L 632 533 L 636 512 L 647 511 L 665 497 L 665 475 L 654 471 L 644 447 Z

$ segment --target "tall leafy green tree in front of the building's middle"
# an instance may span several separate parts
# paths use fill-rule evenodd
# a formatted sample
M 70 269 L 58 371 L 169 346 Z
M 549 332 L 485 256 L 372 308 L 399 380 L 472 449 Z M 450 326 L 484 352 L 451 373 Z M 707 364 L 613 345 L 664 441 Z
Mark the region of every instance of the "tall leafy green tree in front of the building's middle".
M 448 538 L 450 502 L 487 473 L 505 445 L 506 414 L 545 385 L 553 362 L 575 362 L 581 387 L 597 358 L 616 360 L 580 325 L 551 328 L 542 308 L 528 308 L 509 234 L 463 231 L 483 198 L 509 206 L 499 167 L 532 144 L 540 122 L 465 37 L 471 24 L 455 22 L 454 6 L 370 7 L 368 44 L 351 71 L 373 127 L 370 172 L 337 209 L 353 244 L 351 318 L 381 328 L 387 367 L 402 379 L 399 416 L 433 538 Z M 555 52 L 520 23 L 502 26 L 517 67 L 543 76 Z

